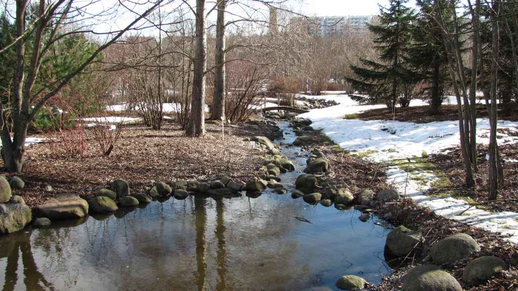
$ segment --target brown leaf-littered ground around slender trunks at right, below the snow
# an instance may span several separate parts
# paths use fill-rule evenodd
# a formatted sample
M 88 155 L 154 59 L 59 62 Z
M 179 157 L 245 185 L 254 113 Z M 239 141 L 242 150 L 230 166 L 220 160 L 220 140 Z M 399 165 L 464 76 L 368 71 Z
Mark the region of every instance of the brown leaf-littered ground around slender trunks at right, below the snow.
M 518 144 L 506 144 L 498 147 L 503 158 L 518 158 Z M 488 208 L 492 211 L 518 212 L 518 163 L 502 162 L 503 183 L 500 184 L 498 200 L 488 202 L 488 165 L 485 159 L 488 154 L 487 146 L 478 146 L 479 171 L 473 176 L 477 183 L 474 187 L 466 187 L 464 184 L 464 169 L 462 155 L 459 148 L 449 149 L 448 154 L 429 155 L 430 162 L 434 163 L 452 181 L 452 185 L 443 188 L 437 194 L 445 191 L 454 191 L 456 195 L 470 197 L 479 203 L 478 207 Z

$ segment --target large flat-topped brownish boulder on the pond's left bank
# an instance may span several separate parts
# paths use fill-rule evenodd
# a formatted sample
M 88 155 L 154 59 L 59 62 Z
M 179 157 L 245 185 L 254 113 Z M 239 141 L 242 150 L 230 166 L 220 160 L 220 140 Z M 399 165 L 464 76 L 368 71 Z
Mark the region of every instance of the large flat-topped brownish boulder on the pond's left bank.
M 74 194 L 61 194 L 36 208 L 50 220 L 78 219 L 88 214 L 88 202 Z

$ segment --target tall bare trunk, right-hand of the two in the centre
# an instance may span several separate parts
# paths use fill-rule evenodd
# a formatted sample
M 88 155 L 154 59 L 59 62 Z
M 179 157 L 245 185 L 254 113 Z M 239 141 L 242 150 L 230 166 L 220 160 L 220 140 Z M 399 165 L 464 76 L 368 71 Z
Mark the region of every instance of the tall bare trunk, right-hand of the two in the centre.
M 210 117 L 213 120 L 225 119 L 225 9 L 226 0 L 219 0 L 216 23 L 214 94 Z

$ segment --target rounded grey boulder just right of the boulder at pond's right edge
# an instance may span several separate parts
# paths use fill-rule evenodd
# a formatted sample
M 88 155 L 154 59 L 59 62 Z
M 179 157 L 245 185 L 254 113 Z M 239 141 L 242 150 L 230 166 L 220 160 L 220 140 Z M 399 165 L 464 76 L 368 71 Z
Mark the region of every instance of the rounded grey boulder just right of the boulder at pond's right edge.
M 430 250 L 431 261 L 437 265 L 453 265 L 480 251 L 479 244 L 469 235 L 455 234 L 438 241 Z

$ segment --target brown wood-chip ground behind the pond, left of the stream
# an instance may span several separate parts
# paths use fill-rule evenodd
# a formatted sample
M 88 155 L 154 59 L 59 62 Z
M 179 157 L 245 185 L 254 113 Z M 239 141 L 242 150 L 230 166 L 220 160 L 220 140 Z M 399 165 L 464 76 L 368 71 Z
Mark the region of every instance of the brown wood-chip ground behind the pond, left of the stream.
M 225 130 L 224 140 L 221 125 L 206 124 L 206 129 L 210 137 L 188 138 L 172 123 L 165 123 L 159 131 L 142 124 L 127 125 L 108 157 L 100 154 L 93 130 L 86 130 L 87 150 L 83 156 L 56 155 L 51 142 L 35 144 L 26 149 L 32 161 L 19 174 L 25 187 L 15 194 L 35 207 L 56 194 L 84 195 L 88 188 L 107 185 L 117 178 L 128 181 L 132 191 L 143 191 L 152 180 L 207 180 L 222 176 L 244 180 L 256 176 L 260 158 L 242 139 L 269 134 L 271 126 L 238 124 L 230 137 Z M 54 188 L 51 193 L 45 191 L 47 185 Z

